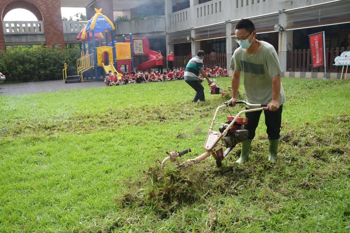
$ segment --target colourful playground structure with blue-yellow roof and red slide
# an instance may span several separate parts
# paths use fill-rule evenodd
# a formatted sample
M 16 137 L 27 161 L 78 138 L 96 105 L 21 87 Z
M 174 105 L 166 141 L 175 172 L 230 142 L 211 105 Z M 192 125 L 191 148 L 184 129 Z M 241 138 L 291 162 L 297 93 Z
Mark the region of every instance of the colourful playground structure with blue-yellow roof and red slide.
M 114 41 L 114 24 L 101 13 L 101 9 L 96 9 L 96 14 L 86 21 L 86 26 L 79 32 L 77 41 L 79 41 L 80 58 L 77 60 L 78 75 L 68 76 L 66 74 L 67 64 L 64 64 L 63 81 L 65 83 L 83 81 L 83 75 L 86 79 L 90 72 L 92 79 L 92 70 L 94 70 L 96 81 L 98 80 L 99 68 L 104 70 L 103 78 L 106 73 L 117 72 L 117 76 L 121 79 L 121 66 L 124 71 L 133 71 L 134 56 L 148 56 L 148 61 L 141 63 L 136 70 L 150 70 L 156 65 L 156 51 L 149 49 L 149 41 L 147 37 L 126 39 L 123 35 L 123 42 Z M 105 36 L 103 35 L 105 33 Z M 111 32 L 112 42 L 108 43 L 107 33 Z M 104 42 L 105 39 L 105 42 Z M 86 48 L 87 42 L 87 48 Z

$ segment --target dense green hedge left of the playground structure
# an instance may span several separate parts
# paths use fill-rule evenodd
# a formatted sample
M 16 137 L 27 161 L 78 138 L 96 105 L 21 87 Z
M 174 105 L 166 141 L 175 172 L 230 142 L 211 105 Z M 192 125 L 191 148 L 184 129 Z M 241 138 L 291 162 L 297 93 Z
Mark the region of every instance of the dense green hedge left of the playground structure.
M 0 72 L 6 81 L 30 82 L 62 79 L 64 63 L 67 75 L 77 75 L 78 48 L 42 48 L 41 46 L 16 46 L 0 50 Z

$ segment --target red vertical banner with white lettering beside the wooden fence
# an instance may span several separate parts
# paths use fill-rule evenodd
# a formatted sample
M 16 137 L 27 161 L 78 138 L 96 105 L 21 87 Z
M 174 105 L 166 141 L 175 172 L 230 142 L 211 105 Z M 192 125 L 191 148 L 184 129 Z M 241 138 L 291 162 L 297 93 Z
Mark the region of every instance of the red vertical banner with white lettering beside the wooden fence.
M 324 32 L 309 35 L 312 67 L 324 66 Z

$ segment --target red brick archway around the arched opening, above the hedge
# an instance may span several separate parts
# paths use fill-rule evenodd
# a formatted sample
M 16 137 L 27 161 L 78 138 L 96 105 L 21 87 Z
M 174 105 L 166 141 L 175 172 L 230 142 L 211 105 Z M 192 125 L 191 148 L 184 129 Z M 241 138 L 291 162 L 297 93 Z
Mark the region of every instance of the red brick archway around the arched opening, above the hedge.
M 54 46 L 57 43 L 64 49 L 60 0 L 0 0 L 0 50 L 6 51 L 3 18 L 10 10 L 17 8 L 29 10 L 38 21 L 44 21 L 46 46 Z

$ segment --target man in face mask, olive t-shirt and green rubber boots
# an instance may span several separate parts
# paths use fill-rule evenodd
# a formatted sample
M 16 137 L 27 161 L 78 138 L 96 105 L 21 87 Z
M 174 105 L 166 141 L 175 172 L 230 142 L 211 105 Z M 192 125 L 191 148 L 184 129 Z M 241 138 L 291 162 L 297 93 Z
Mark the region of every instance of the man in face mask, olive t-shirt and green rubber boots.
M 268 160 L 274 162 L 280 138 L 282 107 L 286 102 L 277 52 L 271 44 L 255 39 L 257 32 L 254 23 L 248 19 L 239 20 L 236 23 L 235 32 L 235 41 L 240 47 L 233 53 L 230 64 L 230 67 L 234 69 L 230 102 L 232 106 L 235 106 L 242 72 L 247 102 L 268 103 L 269 110 L 264 111 L 268 135 Z M 246 107 L 246 109 L 254 108 Z M 244 126 L 244 129 L 249 133 L 248 139 L 242 142 L 241 155 L 236 161 L 238 163 L 247 161 L 249 158 L 250 144 L 255 136 L 261 112 L 253 111 L 245 114 L 248 124 Z

